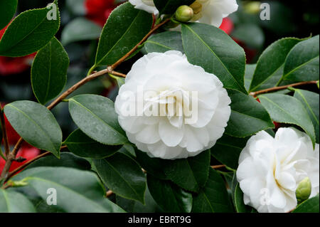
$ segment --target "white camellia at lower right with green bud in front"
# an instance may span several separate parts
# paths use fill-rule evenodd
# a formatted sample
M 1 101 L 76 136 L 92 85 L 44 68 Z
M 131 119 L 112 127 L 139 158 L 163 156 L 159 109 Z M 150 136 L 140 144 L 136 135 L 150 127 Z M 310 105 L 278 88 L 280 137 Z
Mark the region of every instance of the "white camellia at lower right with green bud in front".
M 292 127 L 273 138 L 265 131 L 252 136 L 239 158 L 237 179 L 245 204 L 263 213 L 284 213 L 297 206 L 295 191 L 309 176 L 312 194 L 319 193 L 319 144 Z

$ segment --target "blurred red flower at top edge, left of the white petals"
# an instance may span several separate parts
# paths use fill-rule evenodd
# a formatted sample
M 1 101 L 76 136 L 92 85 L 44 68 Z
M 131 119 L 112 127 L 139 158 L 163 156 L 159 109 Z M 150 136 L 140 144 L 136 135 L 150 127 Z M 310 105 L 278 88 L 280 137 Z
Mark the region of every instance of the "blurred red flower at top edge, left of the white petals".
M 112 10 L 117 7 L 114 0 L 85 0 L 87 19 L 104 26 Z

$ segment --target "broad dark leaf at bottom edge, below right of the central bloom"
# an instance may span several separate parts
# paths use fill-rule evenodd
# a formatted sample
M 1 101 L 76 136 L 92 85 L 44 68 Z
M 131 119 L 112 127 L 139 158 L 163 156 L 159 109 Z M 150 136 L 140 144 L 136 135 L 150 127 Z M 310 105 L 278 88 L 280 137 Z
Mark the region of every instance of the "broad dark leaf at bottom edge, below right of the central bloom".
M 206 186 L 193 196 L 193 213 L 230 213 L 228 191 L 223 178 L 214 169 L 210 169 Z

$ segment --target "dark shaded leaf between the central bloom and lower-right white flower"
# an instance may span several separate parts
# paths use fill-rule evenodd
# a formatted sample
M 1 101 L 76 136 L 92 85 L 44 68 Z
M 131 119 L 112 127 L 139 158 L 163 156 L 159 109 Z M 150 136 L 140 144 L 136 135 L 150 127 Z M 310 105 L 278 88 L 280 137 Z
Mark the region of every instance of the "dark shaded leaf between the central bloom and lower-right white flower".
M 211 155 L 231 169 L 238 169 L 238 161 L 242 149 L 247 144 L 246 138 L 230 137 L 224 134 L 211 148 Z

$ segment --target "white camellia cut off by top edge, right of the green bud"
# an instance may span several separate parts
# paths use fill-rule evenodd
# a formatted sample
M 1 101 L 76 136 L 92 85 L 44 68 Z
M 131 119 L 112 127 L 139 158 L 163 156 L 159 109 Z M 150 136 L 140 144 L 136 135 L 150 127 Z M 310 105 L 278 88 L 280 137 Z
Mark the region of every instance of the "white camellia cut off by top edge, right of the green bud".
M 220 27 L 223 19 L 238 10 L 235 0 L 196 0 L 191 8 L 197 8 L 193 21 Z

